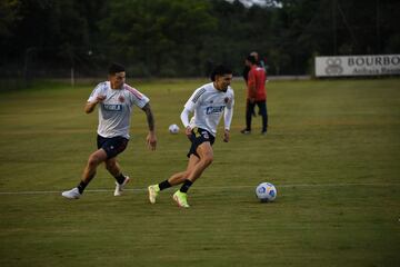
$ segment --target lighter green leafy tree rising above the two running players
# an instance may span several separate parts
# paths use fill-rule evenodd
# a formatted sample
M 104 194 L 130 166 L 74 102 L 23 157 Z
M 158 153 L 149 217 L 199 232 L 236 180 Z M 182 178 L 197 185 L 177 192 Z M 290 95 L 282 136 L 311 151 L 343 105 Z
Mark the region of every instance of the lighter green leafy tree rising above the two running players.
M 124 0 L 110 3 L 100 28 L 108 44 L 120 49 L 111 55 L 127 56 L 127 63 L 142 62 L 143 73 L 163 75 L 168 65 L 182 72 L 191 69 L 214 24 L 206 1 Z

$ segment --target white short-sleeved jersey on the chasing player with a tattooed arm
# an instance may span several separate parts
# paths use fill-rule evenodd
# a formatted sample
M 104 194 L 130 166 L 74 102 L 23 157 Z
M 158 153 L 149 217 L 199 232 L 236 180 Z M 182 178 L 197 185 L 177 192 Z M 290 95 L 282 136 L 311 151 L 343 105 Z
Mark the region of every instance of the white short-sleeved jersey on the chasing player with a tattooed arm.
M 121 136 L 129 139 L 133 105 L 143 108 L 149 98 L 127 83 L 123 83 L 121 89 L 111 89 L 110 81 L 99 83 L 88 102 L 93 102 L 98 96 L 106 96 L 106 99 L 99 102 L 98 134 L 106 138 Z

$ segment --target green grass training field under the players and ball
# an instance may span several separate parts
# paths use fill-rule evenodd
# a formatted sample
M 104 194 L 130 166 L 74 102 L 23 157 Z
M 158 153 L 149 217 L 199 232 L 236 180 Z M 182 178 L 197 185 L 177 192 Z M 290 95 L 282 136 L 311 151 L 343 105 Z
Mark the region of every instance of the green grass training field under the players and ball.
M 270 81 L 268 136 L 242 136 L 244 93 L 233 82 L 231 142 L 189 191 L 190 209 L 146 188 L 186 167 L 184 135 L 168 134 L 207 80 L 129 81 L 151 98 L 159 146 L 146 148 L 134 110 L 120 156 L 133 178 L 122 197 L 100 168 L 76 186 L 94 150 L 94 85 L 43 82 L 0 92 L 0 266 L 400 266 L 400 79 Z M 254 187 L 273 182 L 260 204 Z

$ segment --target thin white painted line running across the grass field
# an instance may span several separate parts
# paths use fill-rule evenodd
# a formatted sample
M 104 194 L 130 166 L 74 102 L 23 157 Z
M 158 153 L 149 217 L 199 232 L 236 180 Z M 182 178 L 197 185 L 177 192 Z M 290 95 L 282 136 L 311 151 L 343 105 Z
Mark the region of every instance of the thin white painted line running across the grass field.
M 354 184 L 292 184 L 292 185 L 277 185 L 277 188 L 288 188 L 288 187 L 357 187 L 357 186 L 372 186 L 372 187 L 399 187 L 400 184 L 374 184 L 374 182 L 354 182 Z M 256 186 L 218 186 L 218 187 L 208 187 L 200 186 L 192 189 L 200 190 L 220 190 L 220 189 L 246 189 L 246 188 L 256 188 Z M 66 189 L 67 190 L 67 189 Z M 133 188 L 133 189 L 124 189 L 126 191 L 146 191 L 147 188 Z M 0 191 L 0 196 L 2 195 L 47 195 L 47 194 L 61 194 L 62 190 L 37 190 L 37 191 Z M 113 189 L 87 189 L 86 192 L 109 192 L 113 191 Z

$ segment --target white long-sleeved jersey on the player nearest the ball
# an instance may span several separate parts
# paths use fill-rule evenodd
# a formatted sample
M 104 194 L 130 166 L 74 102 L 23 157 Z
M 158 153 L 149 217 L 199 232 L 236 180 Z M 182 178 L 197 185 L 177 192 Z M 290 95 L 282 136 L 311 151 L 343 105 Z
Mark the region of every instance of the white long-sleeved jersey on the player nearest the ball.
M 231 87 L 220 91 L 214 88 L 213 82 L 206 83 L 194 90 L 184 108 L 194 116 L 190 120 L 190 127 L 199 127 L 208 130 L 211 135 L 217 135 L 217 126 L 226 109 L 231 110 L 234 105 L 234 93 Z M 226 126 L 229 129 L 229 126 Z

